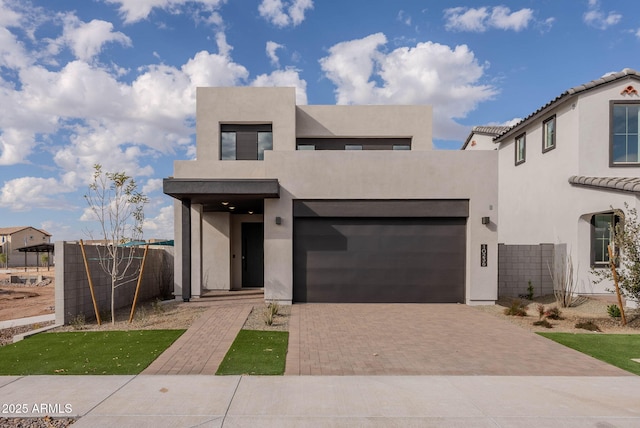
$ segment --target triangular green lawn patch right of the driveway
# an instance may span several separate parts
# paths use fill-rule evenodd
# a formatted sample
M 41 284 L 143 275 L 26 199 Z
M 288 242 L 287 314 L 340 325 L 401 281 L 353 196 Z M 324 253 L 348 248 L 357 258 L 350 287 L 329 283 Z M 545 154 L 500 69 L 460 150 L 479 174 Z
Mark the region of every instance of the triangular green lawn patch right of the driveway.
M 538 333 L 547 339 L 640 375 L 640 334 Z M 553 357 L 552 357 L 553 358 Z

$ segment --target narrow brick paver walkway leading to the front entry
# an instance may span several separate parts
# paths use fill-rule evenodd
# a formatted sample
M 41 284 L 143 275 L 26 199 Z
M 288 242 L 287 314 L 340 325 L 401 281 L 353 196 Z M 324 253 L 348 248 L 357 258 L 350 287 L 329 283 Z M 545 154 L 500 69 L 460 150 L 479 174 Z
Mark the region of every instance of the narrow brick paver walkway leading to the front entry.
M 262 297 L 197 301 L 194 304 L 210 308 L 142 374 L 215 374 L 251 309 L 263 301 Z

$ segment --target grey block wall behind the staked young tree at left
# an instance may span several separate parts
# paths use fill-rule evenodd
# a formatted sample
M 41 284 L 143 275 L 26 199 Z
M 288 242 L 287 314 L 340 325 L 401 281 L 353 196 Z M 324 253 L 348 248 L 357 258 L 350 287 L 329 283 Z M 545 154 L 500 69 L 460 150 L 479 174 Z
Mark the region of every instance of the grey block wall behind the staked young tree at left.
M 104 251 L 104 249 L 103 249 Z M 134 249 L 130 272 L 142 263 L 144 248 Z M 99 249 L 85 245 L 94 295 L 101 314 L 111 310 L 111 278 L 100 267 Z M 68 324 L 77 315 L 95 318 L 93 301 L 80 244 L 56 242 L 56 323 Z M 116 288 L 116 309 L 130 307 L 133 302 L 137 277 Z M 173 247 L 149 247 L 145 261 L 138 302 L 155 298 L 171 298 L 173 289 Z

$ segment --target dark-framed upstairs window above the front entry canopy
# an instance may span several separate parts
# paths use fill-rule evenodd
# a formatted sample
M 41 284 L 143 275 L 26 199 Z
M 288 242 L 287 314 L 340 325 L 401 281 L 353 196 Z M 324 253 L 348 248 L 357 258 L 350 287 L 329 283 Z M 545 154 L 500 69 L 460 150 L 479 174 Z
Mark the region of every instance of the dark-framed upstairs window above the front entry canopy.
M 220 159 L 263 160 L 273 150 L 271 124 L 220 125 Z

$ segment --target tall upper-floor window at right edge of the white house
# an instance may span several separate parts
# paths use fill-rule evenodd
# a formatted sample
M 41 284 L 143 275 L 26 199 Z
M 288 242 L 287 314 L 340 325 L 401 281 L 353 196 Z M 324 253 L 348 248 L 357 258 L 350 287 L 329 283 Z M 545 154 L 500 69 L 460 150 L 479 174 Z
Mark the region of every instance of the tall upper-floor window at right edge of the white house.
M 640 101 L 610 102 L 610 166 L 638 166 L 640 158 Z

